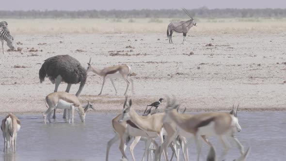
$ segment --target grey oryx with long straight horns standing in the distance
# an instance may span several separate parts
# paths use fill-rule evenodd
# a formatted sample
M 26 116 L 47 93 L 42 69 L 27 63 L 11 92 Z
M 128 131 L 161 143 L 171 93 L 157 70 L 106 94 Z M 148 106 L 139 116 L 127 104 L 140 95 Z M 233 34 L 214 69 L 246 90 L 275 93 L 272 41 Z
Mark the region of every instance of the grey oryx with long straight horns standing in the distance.
M 182 33 L 183 32 L 183 44 L 186 44 L 186 35 L 187 35 L 187 32 L 191 29 L 192 26 L 197 26 L 197 23 L 196 21 L 193 19 L 193 17 L 189 14 L 189 12 L 185 9 L 185 8 L 182 8 L 183 11 L 186 12 L 186 14 L 188 16 L 190 16 L 190 20 L 188 21 L 181 21 L 181 22 L 171 22 L 169 25 L 168 25 L 168 29 L 167 29 L 167 36 L 169 38 L 169 43 L 173 43 L 172 41 L 172 34 L 173 32 L 179 32 L 179 33 Z M 170 31 L 170 34 L 169 34 L 169 31 Z

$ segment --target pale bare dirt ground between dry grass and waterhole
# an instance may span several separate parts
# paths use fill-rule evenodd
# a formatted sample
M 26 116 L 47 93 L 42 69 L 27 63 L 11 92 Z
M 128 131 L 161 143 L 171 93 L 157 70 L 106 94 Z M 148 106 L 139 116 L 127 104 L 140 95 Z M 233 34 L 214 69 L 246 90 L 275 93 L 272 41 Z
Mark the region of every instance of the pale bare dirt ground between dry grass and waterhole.
M 174 44 L 163 33 L 16 35 L 15 45 L 21 42 L 16 47 L 23 50 L 0 53 L 0 113 L 45 112 L 44 99 L 54 85 L 48 79 L 40 84 L 38 72 L 45 59 L 59 54 L 75 57 L 84 67 L 90 57 L 98 68 L 130 65 L 135 94 L 129 88 L 128 95 L 139 111 L 172 95 L 189 112 L 229 111 L 234 103 L 241 111 L 286 110 L 286 34 L 196 35 L 187 36 L 187 45 L 181 44 L 181 34 L 173 35 Z M 102 80 L 89 73 L 80 99 L 90 100 L 96 113 L 119 113 L 126 83 L 114 81 L 114 96 L 107 81 L 97 96 Z M 70 92 L 78 88 L 72 85 Z M 165 105 L 166 99 L 161 111 Z

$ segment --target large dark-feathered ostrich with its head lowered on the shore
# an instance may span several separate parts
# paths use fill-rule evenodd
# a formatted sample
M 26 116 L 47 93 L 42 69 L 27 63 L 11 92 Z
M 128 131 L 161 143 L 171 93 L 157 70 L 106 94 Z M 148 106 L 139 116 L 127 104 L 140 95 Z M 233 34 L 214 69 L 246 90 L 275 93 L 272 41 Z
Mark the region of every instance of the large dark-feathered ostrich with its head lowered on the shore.
M 55 84 L 54 92 L 58 91 L 58 87 L 62 81 L 67 83 L 65 92 L 69 92 L 72 84 L 80 82 L 79 90 L 76 94 L 79 94 L 86 82 L 86 69 L 84 69 L 78 60 L 69 55 L 57 55 L 45 60 L 41 69 L 39 70 L 40 83 L 45 80 L 45 77 Z M 54 110 L 53 118 L 56 118 L 56 109 Z M 64 116 L 66 118 L 66 110 L 64 110 Z

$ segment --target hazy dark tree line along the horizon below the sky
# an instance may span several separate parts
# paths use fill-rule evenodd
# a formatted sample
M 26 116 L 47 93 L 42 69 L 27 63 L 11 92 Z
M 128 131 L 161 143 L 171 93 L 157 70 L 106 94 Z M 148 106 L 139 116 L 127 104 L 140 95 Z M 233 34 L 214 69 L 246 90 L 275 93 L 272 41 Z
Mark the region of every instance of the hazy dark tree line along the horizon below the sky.
M 233 17 L 286 17 L 286 9 L 208 9 L 201 7 L 188 10 L 191 16 L 200 18 Z M 86 10 L 86 11 L 0 11 L 0 18 L 175 18 L 186 17 L 181 9 L 160 10 Z

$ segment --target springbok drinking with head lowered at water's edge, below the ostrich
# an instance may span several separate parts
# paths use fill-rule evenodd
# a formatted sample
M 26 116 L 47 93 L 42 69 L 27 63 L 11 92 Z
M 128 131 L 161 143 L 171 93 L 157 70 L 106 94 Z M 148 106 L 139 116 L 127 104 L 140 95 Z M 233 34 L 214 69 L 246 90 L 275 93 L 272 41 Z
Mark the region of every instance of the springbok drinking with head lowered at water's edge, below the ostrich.
M 85 121 L 85 114 L 89 108 L 93 108 L 93 105 L 88 102 L 87 106 L 83 109 L 79 102 L 79 98 L 76 95 L 69 94 L 67 92 L 54 92 L 49 94 L 45 99 L 48 110 L 43 113 L 44 123 L 46 124 L 46 116 L 48 114 L 48 121 L 50 121 L 50 115 L 54 109 L 67 109 L 68 110 L 68 122 L 70 123 L 70 115 L 72 115 L 72 123 L 74 123 L 74 111 L 78 111 L 79 117 L 82 122 Z M 47 105 L 48 104 L 48 105 Z

